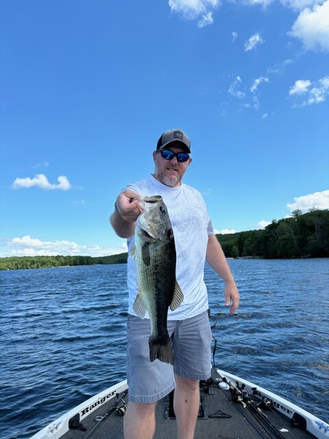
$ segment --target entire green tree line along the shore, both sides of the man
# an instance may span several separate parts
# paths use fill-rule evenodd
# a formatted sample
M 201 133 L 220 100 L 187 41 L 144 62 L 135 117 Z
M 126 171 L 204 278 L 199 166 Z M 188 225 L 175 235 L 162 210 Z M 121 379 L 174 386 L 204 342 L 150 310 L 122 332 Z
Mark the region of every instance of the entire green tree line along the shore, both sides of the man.
M 329 210 L 294 211 L 292 217 L 275 219 L 264 230 L 217 235 L 226 257 L 265 259 L 329 257 Z M 127 253 L 105 257 L 34 256 L 0 258 L 0 270 L 50 268 L 66 265 L 127 263 Z

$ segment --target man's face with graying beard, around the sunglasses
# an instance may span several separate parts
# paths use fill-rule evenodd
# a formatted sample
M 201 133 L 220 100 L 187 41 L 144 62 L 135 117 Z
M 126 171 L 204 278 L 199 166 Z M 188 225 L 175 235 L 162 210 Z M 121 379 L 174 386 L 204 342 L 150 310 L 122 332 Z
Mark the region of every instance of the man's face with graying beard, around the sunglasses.
M 184 148 L 180 146 L 171 146 L 170 143 L 166 150 L 173 151 L 175 153 L 185 152 Z M 166 160 L 160 154 L 160 151 L 154 151 L 153 153 L 154 163 L 156 169 L 154 171 L 154 177 L 162 182 L 163 185 L 169 187 L 178 187 L 180 182 L 191 163 L 192 158 L 189 157 L 186 162 L 179 162 L 177 157 L 174 156 L 171 160 Z

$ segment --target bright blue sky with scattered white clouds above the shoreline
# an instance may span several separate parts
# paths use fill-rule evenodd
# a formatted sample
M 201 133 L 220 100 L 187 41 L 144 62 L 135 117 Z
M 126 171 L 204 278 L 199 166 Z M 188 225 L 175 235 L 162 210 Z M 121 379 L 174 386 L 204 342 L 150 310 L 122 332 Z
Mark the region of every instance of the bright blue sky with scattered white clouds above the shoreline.
M 329 0 L 0 4 L 1 257 L 124 251 L 171 128 L 218 231 L 329 209 Z

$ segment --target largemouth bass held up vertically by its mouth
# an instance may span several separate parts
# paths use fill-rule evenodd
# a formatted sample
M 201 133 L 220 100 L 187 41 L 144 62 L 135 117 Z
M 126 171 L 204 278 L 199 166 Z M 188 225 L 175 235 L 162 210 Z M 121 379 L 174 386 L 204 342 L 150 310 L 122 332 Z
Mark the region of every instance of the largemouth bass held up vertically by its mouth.
M 143 213 L 138 216 L 135 245 L 130 256 L 136 259 L 138 295 L 134 302 L 137 316 L 146 311 L 151 321 L 149 359 L 173 364 L 167 330 L 168 308 L 173 311 L 184 298 L 176 281 L 176 250 L 167 206 L 160 195 L 138 198 Z

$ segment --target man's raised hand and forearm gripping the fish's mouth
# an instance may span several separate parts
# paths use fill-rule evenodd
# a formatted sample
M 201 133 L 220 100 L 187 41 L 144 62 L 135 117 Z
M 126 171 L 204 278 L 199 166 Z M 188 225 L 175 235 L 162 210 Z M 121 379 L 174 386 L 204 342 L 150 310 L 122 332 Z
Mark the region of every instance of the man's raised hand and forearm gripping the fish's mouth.
M 110 216 L 110 223 L 114 232 L 121 238 L 130 238 L 135 233 L 136 219 L 141 213 L 138 200 L 132 201 L 135 197 L 140 197 L 139 193 L 125 189 L 118 195 L 114 204 L 115 209 Z

